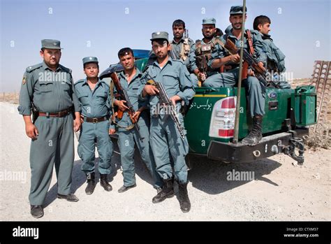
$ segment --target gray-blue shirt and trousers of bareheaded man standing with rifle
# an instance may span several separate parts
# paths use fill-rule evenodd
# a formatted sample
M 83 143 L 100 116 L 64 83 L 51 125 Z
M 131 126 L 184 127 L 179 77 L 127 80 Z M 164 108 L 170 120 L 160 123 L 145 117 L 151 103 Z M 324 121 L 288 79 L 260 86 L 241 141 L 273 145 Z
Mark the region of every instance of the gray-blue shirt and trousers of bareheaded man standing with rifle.
M 139 101 L 138 96 L 140 92 L 140 87 L 142 82 L 140 78 L 142 73 L 136 69 L 135 76 L 132 78 L 131 82 L 128 83 L 126 80 L 124 71 L 119 74 L 119 82 L 122 89 L 125 89 L 130 98 L 130 102 L 133 106 L 133 109 L 137 111 L 142 106 L 147 106 L 146 101 Z M 115 94 L 117 91 L 115 90 Z M 135 145 L 137 145 L 142 161 L 146 164 L 149 173 L 152 175 L 154 180 L 154 187 L 162 187 L 163 182 L 158 173 L 156 173 L 154 156 L 152 149 L 149 145 L 149 117 L 147 110 L 140 113 L 140 118 L 138 120 L 138 125 L 140 127 L 140 135 L 142 136 L 142 141 L 138 136 L 138 131 L 134 128 L 127 130 L 126 128 L 132 125 L 130 116 L 128 113 L 124 113 L 121 120 L 117 122 L 118 124 L 118 145 L 121 152 L 121 164 L 123 168 L 123 177 L 124 177 L 124 187 L 130 187 L 135 185 L 135 162 L 133 155 L 135 152 Z

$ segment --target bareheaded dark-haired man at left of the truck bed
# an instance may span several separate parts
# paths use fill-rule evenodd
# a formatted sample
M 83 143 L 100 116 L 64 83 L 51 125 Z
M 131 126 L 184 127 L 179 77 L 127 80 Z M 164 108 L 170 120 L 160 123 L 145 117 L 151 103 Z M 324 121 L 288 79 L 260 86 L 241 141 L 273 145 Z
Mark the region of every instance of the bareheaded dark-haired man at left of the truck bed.
M 190 69 L 189 56 L 193 50 L 194 41 L 188 36 L 184 36 L 186 33 L 185 22 L 183 20 L 175 20 L 172 23 L 172 33 L 174 35 L 173 40 L 170 42 L 171 49 L 175 54 L 175 59 L 182 60 L 185 63 L 188 70 Z

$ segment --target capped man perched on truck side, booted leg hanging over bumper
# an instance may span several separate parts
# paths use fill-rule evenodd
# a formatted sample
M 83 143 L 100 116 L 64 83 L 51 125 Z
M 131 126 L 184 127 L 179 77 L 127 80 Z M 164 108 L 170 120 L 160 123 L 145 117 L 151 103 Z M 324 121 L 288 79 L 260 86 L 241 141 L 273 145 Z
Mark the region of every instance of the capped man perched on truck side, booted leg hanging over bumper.
M 237 48 L 240 48 L 240 37 L 242 30 L 242 6 L 232 6 L 230 8 L 230 22 L 232 24 L 232 29 L 228 31 L 227 34 L 221 37 L 221 41 L 226 43 L 227 38 L 229 38 Z M 247 16 L 245 16 L 246 18 Z M 246 33 L 248 33 L 246 31 Z M 263 52 L 263 40 L 261 35 L 254 35 L 251 33 L 251 43 L 252 47 L 249 48 L 248 36 L 245 34 L 244 37 L 244 48 L 248 52 L 253 49 L 254 54 L 257 57 L 258 65 L 261 69 L 265 66 L 265 53 Z M 239 73 L 239 62 L 240 55 L 228 55 L 224 48 L 216 45 L 214 51 L 212 52 L 212 59 L 209 60 L 208 65 L 212 69 L 219 69 L 219 67 L 226 65 L 230 66 L 230 69 L 223 73 L 216 73 L 215 75 L 207 78 L 203 83 L 205 87 L 233 87 L 238 80 Z M 262 139 L 262 117 L 265 113 L 265 87 L 260 84 L 258 79 L 253 76 L 253 73 L 248 76 L 247 79 L 243 80 L 244 85 L 248 88 L 248 99 L 249 99 L 249 111 L 251 117 L 253 117 L 253 128 L 251 129 L 249 135 L 242 140 L 243 144 L 246 145 L 256 145 L 258 141 Z

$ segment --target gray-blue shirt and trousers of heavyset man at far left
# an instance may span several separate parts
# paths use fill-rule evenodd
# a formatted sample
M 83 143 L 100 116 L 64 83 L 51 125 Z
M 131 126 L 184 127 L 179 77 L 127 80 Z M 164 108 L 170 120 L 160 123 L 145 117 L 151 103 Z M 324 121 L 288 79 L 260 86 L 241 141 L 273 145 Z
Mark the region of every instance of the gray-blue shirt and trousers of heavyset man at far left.
M 43 113 L 58 113 L 73 107 L 80 111 L 73 87 L 71 70 L 59 65 L 52 71 L 43 62 L 29 66 L 20 90 L 21 115 L 31 115 L 31 102 Z M 52 180 L 53 165 L 57 173 L 59 194 L 71 193 L 73 170 L 73 114 L 64 117 L 39 116 L 35 122 L 38 138 L 31 141 L 31 205 L 42 205 Z

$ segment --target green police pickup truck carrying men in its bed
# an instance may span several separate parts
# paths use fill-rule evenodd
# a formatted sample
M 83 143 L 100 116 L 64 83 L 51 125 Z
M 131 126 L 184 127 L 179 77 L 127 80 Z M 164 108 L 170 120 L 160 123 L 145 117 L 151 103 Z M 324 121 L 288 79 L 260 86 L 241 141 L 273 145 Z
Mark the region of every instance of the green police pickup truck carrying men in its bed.
M 144 71 L 154 62 L 148 50 L 133 50 L 135 66 Z M 122 71 L 120 64 L 111 65 L 101 73 Z M 251 162 L 279 153 L 289 155 L 298 164 L 304 162 L 304 143 L 308 126 L 316 124 L 316 92 L 313 86 L 295 89 L 267 88 L 263 139 L 254 146 L 242 145 L 252 120 L 247 113 L 245 89 L 241 89 L 239 143 L 233 143 L 237 87 L 219 89 L 197 87 L 196 95 L 184 117 L 189 141 L 189 154 L 226 163 Z

